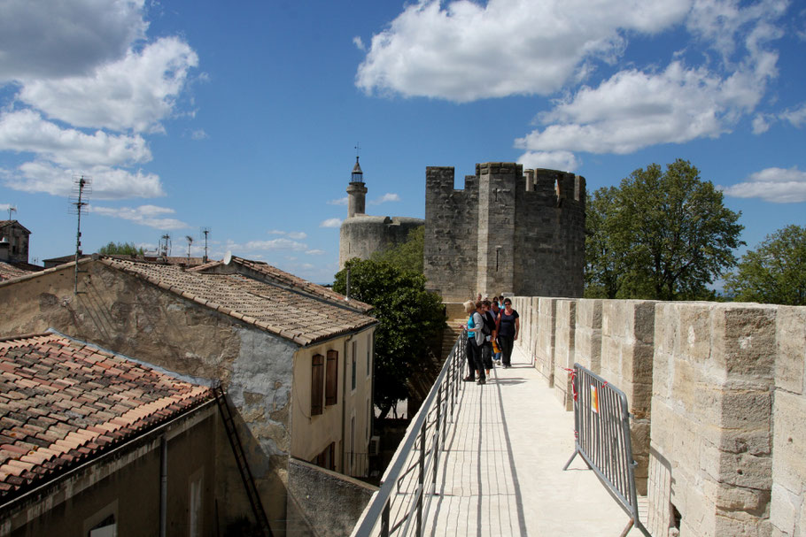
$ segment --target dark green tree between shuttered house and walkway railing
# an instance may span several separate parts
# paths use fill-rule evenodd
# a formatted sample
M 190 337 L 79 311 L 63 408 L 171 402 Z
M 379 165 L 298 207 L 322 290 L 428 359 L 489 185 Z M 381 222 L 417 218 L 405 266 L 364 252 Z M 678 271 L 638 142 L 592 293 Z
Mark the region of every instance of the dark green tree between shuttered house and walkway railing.
M 408 380 L 430 356 L 445 326 L 442 299 L 425 289 L 425 277 L 385 262 L 353 258 L 336 274 L 333 289 L 375 306 L 375 403 L 384 417 L 409 394 Z

